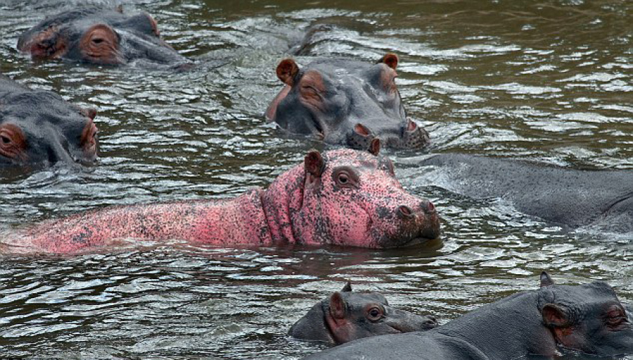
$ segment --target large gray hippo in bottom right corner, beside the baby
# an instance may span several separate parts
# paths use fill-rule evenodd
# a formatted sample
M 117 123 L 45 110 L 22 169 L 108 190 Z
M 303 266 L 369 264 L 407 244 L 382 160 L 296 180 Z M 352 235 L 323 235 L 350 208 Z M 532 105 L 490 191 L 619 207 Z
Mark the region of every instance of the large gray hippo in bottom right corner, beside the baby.
M 607 283 L 554 285 L 543 273 L 539 290 L 511 295 L 433 330 L 355 340 L 306 359 L 551 359 L 565 351 L 633 353 L 632 325 Z

